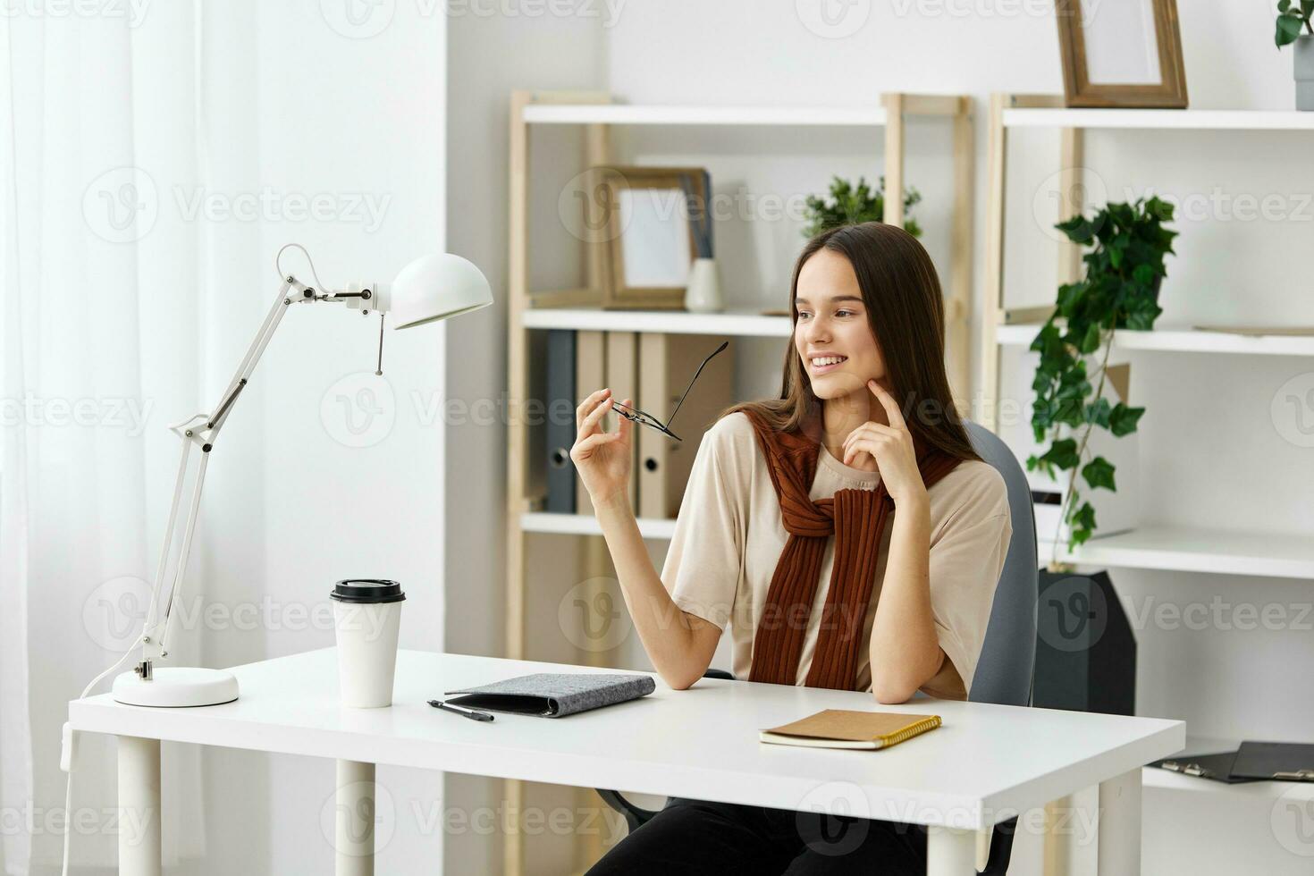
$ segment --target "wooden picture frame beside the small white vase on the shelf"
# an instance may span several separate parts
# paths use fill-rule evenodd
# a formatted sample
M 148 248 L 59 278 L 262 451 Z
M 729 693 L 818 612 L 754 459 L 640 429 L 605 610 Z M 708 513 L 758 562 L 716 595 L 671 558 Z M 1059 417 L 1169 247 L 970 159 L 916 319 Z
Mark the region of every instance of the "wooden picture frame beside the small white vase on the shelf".
M 682 310 L 690 265 L 706 250 L 708 177 L 698 167 L 602 168 L 602 306 Z

